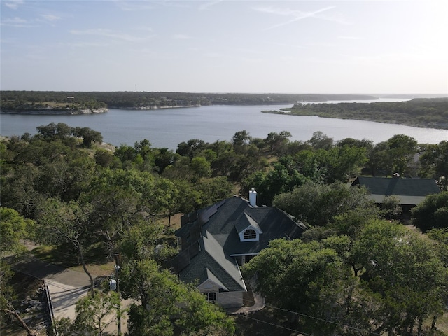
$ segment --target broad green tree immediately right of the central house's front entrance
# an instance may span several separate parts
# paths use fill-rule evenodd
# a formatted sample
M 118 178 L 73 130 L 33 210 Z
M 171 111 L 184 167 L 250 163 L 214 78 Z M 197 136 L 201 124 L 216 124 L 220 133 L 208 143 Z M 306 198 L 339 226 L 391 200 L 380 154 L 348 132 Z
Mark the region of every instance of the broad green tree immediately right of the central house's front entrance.
M 268 248 L 244 265 L 242 272 L 246 278 L 256 274 L 255 289 L 270 304 L 291 311 L 304 332 L 351 335 L 351 330 L 341 328 L 347 321 L 352 326 L 367 326 L 353 302 L 358 289 L 350 268 L 337 250 L 323 242 L 271 241 Z

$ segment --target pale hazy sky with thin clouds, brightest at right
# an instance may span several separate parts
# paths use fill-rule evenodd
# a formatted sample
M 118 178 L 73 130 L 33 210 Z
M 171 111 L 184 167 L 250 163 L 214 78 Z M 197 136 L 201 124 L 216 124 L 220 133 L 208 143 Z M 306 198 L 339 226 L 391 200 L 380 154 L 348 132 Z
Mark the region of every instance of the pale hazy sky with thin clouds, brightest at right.
M 0 0 L 0 89 L 448 94 L 447 0 Z

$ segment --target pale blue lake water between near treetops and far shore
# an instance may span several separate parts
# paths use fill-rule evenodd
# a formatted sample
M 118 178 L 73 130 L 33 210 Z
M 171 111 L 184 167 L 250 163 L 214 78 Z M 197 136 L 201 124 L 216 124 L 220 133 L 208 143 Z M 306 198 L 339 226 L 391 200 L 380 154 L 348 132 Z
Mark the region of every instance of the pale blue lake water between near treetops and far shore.
M 49 123 L 66 123 L 71 127 L 90 127 L 101 132 L 105 142 L 133 146 L 148 139 L 153 147 L 176 149 L 182 141 L 202 139 L 230 141 L 235 132 L 247 130 L 252 137 L 265 138 L 269 132 L 289 131 L 291 141 L 309 140 L 321 131 L 337 140 L 344 138 L 386 141 L 395 134 L 414 137 L 419 143 L 438 144 L 448 141 L 448 130 L 408 127 L 362 120 L 319 118 L 316 116 L 282 116 L 261 113 L 291 105 L 228 106 L 214 105 L 177 109 L 119 110 L 93 115 L 14 115 L 1 114 L 2 136 L 36 134 L 36 127 Z

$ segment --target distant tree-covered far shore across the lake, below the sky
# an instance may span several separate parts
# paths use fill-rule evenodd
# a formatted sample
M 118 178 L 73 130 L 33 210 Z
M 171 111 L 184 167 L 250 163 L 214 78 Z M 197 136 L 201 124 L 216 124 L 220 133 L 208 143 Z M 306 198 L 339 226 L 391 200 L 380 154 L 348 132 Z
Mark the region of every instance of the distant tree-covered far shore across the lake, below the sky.
M 374 100 L 367 94 L 241 94 L 187 92 L 46 92 L 1 91 L 0 112 L 20 114 L 104 113 L 108 109 L 167 109 L 209 105 L 294 104 L 265 113 L 320 116 L 448 129 L 448 97 L 409 96 L 407 102 L 347 103 Z M 325 104 L 328 101 L 341 101 Z M 307 102 L 307 103 L 304 103 Z M 313 104 L 319 102 L 320 104 Z

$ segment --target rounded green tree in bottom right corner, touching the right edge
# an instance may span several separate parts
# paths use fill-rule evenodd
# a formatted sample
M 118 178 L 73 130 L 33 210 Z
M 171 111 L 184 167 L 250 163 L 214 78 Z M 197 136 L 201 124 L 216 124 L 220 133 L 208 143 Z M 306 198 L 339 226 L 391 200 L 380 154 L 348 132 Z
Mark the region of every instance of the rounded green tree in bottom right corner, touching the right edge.
M 372 221 L 363 228 L 353 255 L 378 307 L 375 332 L 412 335 L 426 318 L 440 314 L 448 269 L 435 251 L 431 241 L 402 225 Z

